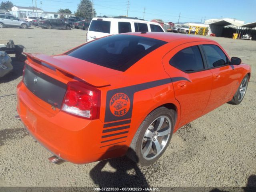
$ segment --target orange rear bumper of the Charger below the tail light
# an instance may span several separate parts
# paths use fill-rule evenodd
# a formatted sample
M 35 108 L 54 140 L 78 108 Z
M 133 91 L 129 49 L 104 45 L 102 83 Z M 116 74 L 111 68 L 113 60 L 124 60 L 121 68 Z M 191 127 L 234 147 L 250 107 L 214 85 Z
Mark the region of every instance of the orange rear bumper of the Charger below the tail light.
M 28 132 L 47 150 L 63 160 L 85 164 L 122 153 L 106 154 L 100 146 L 103 123 L 72 116 L 58 109 L 49 110 L 20 82 L 17 86 L 17 111 Z

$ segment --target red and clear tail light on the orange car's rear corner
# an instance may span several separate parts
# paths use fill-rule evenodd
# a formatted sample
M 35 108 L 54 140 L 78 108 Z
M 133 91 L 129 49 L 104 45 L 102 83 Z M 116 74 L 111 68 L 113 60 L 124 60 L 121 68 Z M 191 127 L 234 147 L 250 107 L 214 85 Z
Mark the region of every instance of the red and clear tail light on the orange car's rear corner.
M 68 82 L 62 111 L 88 118 L 100 116 L 100 90 L 83 82 Z

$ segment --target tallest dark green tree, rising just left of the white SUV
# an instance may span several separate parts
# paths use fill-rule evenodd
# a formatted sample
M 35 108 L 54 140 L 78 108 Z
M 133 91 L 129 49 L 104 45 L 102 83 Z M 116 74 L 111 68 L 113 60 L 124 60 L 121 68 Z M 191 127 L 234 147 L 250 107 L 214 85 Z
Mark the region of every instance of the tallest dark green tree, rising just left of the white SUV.
M 94 16 L 96 16 L 95 9 L 93 11 Z M 90 0 L 81 0 L 80 4 L 77 6 L 75 15 L 85 19 L 92 19 L 92 2 Z

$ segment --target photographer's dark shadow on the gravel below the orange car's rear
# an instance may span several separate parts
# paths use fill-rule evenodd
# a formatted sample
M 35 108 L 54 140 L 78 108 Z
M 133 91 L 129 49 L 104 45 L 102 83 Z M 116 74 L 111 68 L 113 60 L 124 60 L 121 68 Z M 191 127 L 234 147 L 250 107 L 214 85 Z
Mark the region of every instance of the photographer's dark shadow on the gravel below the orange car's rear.
M 108 148 L 106 153 L 100 159 L 106 158 L 108 156 L 108 152 L 122 147 L 126 146 L 115 145 Z M 133 150 L 131 151 L 135 154 Z M 109 169 L 109 166 L 114 168 L 115 171 L 105 171 Z M 126 156 L 100 161 L 90 171 L 90 177 L 99 187 L 149 187 L 145 176 L 142 174 L 140 168 L 138 167 L 138 164 Z

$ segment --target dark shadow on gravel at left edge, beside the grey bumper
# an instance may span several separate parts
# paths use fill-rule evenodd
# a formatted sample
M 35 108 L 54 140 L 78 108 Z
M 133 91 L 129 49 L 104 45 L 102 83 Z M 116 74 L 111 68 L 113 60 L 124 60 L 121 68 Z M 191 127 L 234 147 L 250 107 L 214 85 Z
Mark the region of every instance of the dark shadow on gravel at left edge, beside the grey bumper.
M 13 70 L 10 73 L 0 78 L 0 84 L 10 82 L 22 76 L 25 62 L 21 62 L 15 57 L 11 57 L 11 58 L 12 58 Z

